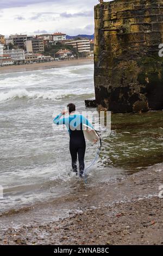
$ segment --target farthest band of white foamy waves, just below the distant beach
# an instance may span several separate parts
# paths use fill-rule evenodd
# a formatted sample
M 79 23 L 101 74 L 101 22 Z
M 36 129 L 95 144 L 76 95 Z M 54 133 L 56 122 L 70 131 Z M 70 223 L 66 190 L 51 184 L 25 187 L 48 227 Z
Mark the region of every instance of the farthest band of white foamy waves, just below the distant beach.
M 92 78 L 93 66 L 76 66 L 67 68 L 55 68 L 46 70 L 35 70 L 17 72 L 10 74 L 0 74 L 0 88 L 22 88 L 43 86 L 49 84 L 78 81 L 83 78 Z

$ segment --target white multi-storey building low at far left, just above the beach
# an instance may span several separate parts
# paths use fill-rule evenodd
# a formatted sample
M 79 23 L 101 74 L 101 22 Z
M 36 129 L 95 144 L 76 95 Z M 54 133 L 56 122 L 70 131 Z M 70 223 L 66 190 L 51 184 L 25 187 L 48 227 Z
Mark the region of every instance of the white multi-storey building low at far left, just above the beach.
M 8 54 L 15 63 L 25 62 L 25 53 L 23 49 L 4 50 L 4 54 Z

